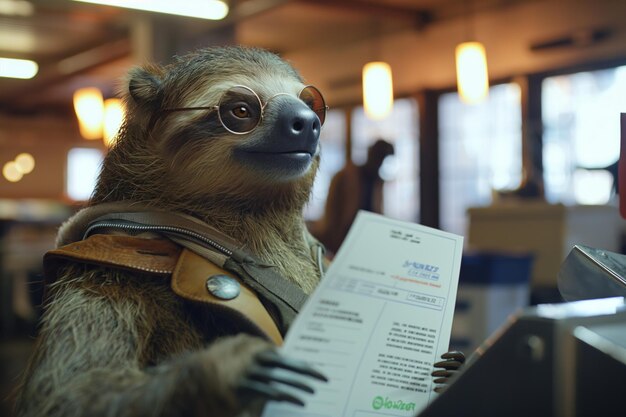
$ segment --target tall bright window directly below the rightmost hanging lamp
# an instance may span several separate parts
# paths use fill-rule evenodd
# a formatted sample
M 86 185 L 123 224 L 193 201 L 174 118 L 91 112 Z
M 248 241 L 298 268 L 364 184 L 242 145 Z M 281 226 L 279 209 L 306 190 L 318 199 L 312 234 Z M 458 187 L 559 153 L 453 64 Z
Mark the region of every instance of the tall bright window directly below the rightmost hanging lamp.
M 457 93 L 439 99 L 441 228 L 466 234 L 466 210 L 492 201 L 493 190 L 517 188 L 522 179 L 521 91 L 515 83 L 489 89 L 481 104 Z

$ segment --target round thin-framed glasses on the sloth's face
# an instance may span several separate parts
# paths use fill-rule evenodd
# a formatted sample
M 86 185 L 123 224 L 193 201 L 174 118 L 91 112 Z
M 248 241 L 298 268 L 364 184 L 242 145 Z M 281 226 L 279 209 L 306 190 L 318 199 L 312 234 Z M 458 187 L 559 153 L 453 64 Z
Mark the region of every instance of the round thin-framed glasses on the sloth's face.
M 290 94 L 274 94 L 263 103 L 259 95 L 250 87 L 235 85 L 222 94 L 217 106 L 177 107 L 163 109 L 162 111 L 169 113 L 188 110 L 215 110 L 224 129 L 235 135 L 245 135 L 252 132 L 261 123 L 267 103 L 281 95 Z M 326 120 L 328 106 L 322 93 L 316 87 L 307 85 L 300 90 L 298 98 L 317 115 L 320 119 L 320 125 L 323 125 Z

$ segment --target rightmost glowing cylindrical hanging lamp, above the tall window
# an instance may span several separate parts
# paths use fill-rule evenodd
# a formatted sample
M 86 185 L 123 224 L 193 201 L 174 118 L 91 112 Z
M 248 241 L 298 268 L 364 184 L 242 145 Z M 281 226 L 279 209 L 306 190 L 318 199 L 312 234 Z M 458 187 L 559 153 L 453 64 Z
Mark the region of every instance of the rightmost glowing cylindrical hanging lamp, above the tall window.
M 482 102 L 489 95 L 487 54 L 480 42 L 463 42 L 456 47 L 456 79 L 461 100 Z

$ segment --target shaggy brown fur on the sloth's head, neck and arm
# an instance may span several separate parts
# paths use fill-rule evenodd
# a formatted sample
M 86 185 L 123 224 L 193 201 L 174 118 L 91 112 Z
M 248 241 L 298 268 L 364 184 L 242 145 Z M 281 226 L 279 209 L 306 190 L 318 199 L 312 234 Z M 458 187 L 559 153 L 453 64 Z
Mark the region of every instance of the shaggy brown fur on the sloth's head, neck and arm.
M 215 113 L 161 112 L 217 105 L 233 85 L 251 87 L 264 102 L 277 93 L 289 96 L 270 101 L 260 125 L 246 135 L 226 131 Z M 282 109 L 298 100 L 303 87 L 298 73 L 276 55 L 240 47 L 200 50 L 166 67 L 131 70 L 123 89 L 127 119 L 90 205 L 118 202 L 194 216 L 310 293 L 320 272 L 301 213 L 319 144 L 310 163 L 288 172 L 236 157 L 238 149 L 275 140 Z M 235 386 L 270 343 L 239 334 L 236 325 L 178 298 L 167 279 L 73 264 L 51 286 L 50 300 L 19 390 L 18 415 L 247 412 Z

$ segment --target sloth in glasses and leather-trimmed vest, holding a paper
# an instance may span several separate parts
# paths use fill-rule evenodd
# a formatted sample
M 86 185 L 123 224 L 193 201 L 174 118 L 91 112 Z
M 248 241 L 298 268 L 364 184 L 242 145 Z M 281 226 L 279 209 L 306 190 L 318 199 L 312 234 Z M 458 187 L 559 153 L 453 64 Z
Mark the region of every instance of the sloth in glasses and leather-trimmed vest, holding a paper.
M 92 198 L 46 255 L 46 309 L 18 415 L 231 417 L 267 400 L 302 404 L 297 392 L 322 374 L 215 302 L 231 297 L 222 281 L 211 302 L 180 287 L 192 280 L 181 271 L 195 271 L 186 262 L 207 258 L 243 286 L 235 297 L 257 293 L 280 342 L 324 270 L 302 217 L 320 161 L 321 93 L 277 55 L 233 46 L 133 68 L 121 94 L 126 120 Z

